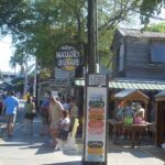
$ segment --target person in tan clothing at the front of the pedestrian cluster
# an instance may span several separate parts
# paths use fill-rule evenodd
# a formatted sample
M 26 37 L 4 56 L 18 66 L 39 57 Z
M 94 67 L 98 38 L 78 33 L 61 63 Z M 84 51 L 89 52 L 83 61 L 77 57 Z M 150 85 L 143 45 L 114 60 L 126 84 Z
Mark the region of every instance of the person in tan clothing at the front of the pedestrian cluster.
M 50 101 L 50 131 L 53 139 L 53 146 L 55 148 L 58 148 L 56 138 L 58 135 L 58 123 L 59 120 L 63 118 L 63 111 L 64 108 L 63 105 L 58 101 L 58 98 L 52 96 Z

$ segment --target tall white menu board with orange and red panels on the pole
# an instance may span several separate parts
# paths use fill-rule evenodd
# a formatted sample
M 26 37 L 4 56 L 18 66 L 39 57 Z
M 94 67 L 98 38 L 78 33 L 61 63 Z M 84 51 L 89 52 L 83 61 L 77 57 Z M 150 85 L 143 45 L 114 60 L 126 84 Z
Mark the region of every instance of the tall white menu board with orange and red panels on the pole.
M 87 87 L 86 162 L 106 161 L 107 88 Z

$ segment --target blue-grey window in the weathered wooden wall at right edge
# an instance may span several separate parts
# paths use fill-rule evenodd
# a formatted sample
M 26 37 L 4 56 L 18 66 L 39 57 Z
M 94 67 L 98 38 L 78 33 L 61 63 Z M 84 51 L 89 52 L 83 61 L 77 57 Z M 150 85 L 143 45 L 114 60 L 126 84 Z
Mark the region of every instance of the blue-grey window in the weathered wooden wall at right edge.
M 154 43 L 151 45 L 151 63 L 165 63 L 165 44 Z

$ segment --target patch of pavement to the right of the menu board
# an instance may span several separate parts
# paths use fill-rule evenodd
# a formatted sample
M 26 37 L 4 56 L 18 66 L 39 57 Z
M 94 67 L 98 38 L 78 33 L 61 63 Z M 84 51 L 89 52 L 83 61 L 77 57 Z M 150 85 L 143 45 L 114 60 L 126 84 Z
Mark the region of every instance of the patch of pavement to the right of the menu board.
M 140 147 L 109 142 L 108 165 L 164 165 L 164 161 Z

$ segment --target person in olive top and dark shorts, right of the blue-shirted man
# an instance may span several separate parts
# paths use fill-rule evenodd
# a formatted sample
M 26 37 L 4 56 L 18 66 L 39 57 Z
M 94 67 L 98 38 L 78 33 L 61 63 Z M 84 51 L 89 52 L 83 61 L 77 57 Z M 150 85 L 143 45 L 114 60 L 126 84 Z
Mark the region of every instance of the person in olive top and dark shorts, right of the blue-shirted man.
M 24 106 L 24 118 L 25 118 L 25 133 L 30 132 L 33 134 L 33 118 L 35 114 L 35 103 L 32 101 L 32 97 L 28 96 L 26 103 Z

